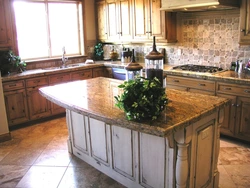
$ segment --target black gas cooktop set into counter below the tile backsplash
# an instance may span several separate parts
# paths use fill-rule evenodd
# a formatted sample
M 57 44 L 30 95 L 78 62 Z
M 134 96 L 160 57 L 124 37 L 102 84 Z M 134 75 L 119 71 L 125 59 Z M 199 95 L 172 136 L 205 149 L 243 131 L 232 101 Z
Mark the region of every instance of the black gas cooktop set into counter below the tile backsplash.
M 204 66 L 204 65 L 193 65 L 186 64 L 173 67 L 174 70 L 183 70 L 183 71 L 191 71 L 191 72 L 200 72 L 200 73 L 216 73 L 222 71 L 222 68 L 214 67 L 214 66 Z

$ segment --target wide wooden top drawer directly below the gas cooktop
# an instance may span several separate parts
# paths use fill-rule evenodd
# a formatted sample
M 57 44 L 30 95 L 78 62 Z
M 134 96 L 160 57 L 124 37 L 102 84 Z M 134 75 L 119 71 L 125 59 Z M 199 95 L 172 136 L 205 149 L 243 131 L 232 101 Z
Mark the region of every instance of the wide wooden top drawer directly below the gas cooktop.
M 215 82 L 208 80 L 167 76 L 167 85 L 183 86 L 200 90 L 215 91 Z

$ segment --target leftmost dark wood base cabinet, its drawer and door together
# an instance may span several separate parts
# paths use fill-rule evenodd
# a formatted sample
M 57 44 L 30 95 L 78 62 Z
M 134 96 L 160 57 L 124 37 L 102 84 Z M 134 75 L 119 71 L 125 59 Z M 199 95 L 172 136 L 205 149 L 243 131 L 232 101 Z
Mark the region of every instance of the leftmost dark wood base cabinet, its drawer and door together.
M 9 126 L 29 120 L 24 80 L 3 83 L 5 107 Z

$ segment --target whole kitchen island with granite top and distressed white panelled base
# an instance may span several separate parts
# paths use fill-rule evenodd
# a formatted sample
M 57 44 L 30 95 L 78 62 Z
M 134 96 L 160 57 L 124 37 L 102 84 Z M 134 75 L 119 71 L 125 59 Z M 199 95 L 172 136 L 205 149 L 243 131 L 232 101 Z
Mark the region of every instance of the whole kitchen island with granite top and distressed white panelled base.
M 93 78 L 40 88 L 66 108 L 68 149 L 127 187 L 218 187 L 219 127 L 228 100 L 167 89 L 156 121 L 115 107 L 122 81 Z

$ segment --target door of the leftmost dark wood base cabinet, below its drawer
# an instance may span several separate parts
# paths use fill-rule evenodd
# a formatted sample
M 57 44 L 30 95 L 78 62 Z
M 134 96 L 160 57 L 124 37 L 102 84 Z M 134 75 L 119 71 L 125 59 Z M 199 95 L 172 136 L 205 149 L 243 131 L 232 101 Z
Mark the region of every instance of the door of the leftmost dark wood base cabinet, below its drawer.
M 25 89 L 4 92 L 9 126 L 29 120 Z

